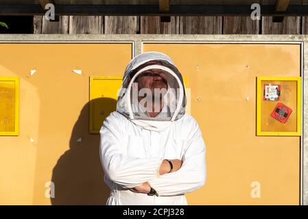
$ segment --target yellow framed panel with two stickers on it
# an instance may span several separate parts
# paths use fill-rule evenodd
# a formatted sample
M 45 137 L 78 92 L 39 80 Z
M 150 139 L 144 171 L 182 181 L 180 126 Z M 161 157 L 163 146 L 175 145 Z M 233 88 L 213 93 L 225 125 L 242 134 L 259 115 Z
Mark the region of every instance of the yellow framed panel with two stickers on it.
M 263 101 L 263 88 L 269 83 L 281 86 L 279 101 Z M 300 85 L 300 77 L 257 78 L 257 136 L 300 136 Z M 283 103 L 292 109 L 286 123 L 280 123 L 270 116 L 277 103 Z

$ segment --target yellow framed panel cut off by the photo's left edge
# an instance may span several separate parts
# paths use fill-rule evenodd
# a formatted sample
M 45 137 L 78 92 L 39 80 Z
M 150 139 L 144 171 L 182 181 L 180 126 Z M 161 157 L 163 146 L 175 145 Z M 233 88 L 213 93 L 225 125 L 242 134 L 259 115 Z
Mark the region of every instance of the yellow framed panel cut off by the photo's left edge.
M 0 136 L 19 135 L 19 77 L 0 77 Z

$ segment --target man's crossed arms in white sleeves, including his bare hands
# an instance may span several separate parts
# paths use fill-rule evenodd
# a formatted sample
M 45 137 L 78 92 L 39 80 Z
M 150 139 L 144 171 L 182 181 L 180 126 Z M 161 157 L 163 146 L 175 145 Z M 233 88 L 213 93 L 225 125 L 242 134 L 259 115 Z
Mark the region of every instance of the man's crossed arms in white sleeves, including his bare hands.
M 197 123 L 188 129 L 189 144 L 182 161 L 158 157 L 129 157 L 121 152 L 121 127 L 117 116 L 110 114 L 100 131 L 100 157 L 105 174 L 123 188 L 133 192 L 156 190 L 158 196 L 176 196 L 201 188 L 206 180 L 205 146 Z

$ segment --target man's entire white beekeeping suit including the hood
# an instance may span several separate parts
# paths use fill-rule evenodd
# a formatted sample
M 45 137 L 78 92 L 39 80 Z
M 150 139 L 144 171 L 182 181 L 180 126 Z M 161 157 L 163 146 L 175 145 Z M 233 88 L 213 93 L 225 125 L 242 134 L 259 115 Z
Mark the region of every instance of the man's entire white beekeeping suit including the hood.
M 161 64 L 146 64 L 152 60 Z M 154 118 L 138 107 L 136 110 L 132 101 L 134 79 L 152 68 L 166 73 L 169 94 L 163 105 L 165 111 Z M 106 118 L 100 130 L 104 181 L 111 190 L 107 205 L 187 205 L 185 194 L 204 185 L 205 144 L 198 123 L 185 114 L 185 106 L 182 76 L 170 57 L 146 52 L 130 61 L 123 76 L 117 112 Z M 163 159 L 181 159 L 183 163 L 178 171 L 159 175 Z M 130 190 L 144 182 L 158 196 Z

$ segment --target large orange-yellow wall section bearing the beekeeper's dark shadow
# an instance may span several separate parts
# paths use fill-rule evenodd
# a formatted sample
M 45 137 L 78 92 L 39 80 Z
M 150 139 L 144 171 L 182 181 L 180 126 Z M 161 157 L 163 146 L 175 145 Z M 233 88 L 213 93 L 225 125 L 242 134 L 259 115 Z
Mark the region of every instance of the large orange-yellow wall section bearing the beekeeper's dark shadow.
M 0 205 L 51 204 L 48 181 L 56 185 L 53 204 L 104 205 L 99 135 L 88 134 L 89 76 L 121 76 L 132 44 L 0 44 L 0 51 L 0 77 L 20 77 L 20 134 L 0 136 Z

